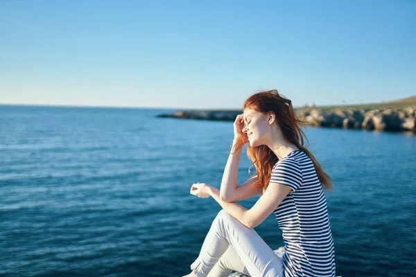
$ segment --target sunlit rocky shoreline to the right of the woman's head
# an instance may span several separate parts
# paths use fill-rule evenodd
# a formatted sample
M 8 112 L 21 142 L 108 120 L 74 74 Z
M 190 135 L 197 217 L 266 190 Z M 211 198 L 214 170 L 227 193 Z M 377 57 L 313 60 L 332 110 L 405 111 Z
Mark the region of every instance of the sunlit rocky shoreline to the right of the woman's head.
M 416 132 L 416 107 L 402 109 L 299 109 L 296 111 L 306 125 L 374 129 L 379 131 Z

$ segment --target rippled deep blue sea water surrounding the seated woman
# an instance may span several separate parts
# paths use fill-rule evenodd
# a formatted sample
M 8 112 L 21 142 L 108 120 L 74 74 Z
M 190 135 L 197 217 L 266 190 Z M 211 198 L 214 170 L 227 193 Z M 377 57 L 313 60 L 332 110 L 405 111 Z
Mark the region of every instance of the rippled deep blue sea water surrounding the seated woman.
M 232 123 L 155 117 L 170 111 L 0 106 L 0 275 L 188 274 L 220 211 L 189 188 L 219 187 Z M 333 179 L 337 275 L 414 276 L 416 136 L 306 135 Z M 272 216 L 256 230 L 284 245 Z

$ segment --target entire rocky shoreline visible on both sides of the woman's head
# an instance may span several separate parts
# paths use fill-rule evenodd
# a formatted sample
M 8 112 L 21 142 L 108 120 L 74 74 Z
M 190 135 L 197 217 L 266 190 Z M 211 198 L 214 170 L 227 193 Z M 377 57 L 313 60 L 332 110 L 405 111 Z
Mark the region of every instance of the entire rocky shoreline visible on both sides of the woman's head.
M 187 118 L 199 120 L 234 121 L 241 110 L 189 110 L 161 114 L 162 118 Z M 402 108 L 358 109 L 339 108 L 299 108 L 295 109 L 305 125 L 316 127 L 339 127 L 345 129 L 369 129 L 378 131 L 416 133 L 416 105 Z

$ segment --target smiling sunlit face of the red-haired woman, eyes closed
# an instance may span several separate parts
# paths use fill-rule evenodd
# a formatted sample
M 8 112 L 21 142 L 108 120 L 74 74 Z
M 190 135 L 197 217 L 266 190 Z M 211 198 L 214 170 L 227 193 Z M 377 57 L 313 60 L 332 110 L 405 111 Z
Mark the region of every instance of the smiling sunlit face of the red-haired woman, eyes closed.
M 270 118 L 254 109 L 245 109 L 243 119 L 244 127 L 242 131 L 247 134 L 250 146 L 265 145 L 271 131 Z

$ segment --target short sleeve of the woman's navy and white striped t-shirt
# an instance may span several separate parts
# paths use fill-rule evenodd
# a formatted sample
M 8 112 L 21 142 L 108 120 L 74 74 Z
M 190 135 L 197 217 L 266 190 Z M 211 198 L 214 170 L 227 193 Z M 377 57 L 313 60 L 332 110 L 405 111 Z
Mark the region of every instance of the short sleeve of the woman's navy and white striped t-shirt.
M 285 159 L 272 170 L 270 183 L 286 185 L 295 191 L 302 185 L 302 179 L 300 164 L 293 159 Z

